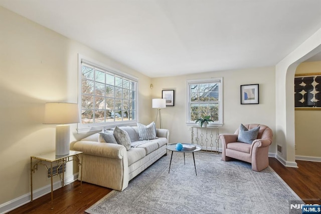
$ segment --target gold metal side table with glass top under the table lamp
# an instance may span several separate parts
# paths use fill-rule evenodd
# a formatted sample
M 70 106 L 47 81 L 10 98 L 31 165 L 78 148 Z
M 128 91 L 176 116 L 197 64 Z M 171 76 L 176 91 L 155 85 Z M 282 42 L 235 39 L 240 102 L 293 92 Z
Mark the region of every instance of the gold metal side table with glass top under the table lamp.
M 80 193 L 82 192 L 82 154 L 83 152 L 70 150 L 68 155 L 56 156 L 56 152 L 50 152 L 38 156 L 30 157 L 30 182 L 31 182 L 31 201 L 33 201 L 33 186 L 32 186 L 32 174 L 38 169 L 38 165 L 43 165 L 49 170 L 47 164 L 50 164 L 50 179 L 51 179 L 51 205 L 52 209 L 54 208 L 54 194 L 53 194 L 53 176 L 58 175 L 59 168 L 62 167 L 62 187 L 64 187 L 64 167 L 65 163 L 69 161 L 77 161 L 78 165 L 81 166 L 80 172 Z M 81 157 L 80 157 L 81 155 Z M 76 157 L 77 159 L 71 158 Z M 33 164 L 33 159 L 37 160 L 35 164 Z M 49 162 L 49 163 L 43 163 Z M 53 172 L 53 163 L 56 162 L 58 164 L 56 172 Z

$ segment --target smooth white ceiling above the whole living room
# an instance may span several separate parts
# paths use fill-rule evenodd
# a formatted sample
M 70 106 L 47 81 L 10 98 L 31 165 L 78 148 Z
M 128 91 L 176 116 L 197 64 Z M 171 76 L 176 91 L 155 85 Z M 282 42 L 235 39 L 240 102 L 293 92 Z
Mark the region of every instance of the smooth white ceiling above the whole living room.
M 321 28 L 321 0 L 0 0 L 150 77 L 273 66 Z

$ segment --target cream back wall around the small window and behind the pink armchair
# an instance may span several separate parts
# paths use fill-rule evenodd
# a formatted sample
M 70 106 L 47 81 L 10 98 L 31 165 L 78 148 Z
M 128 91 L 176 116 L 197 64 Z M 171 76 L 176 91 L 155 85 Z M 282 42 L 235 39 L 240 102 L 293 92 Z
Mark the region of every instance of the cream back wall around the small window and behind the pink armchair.
M 275 130 L 274 67 L 216 71 L 184 76 L 153 78 L 152 98 L 161 98 L 162 90 L 175 90 L 175 106 L 162 110 L 163 127 L 171 130 L 170 142 L 191 142 L 186 125 L 187 80 L 223 77 L 223 127 L 220 133 L 234 133 L 241 123 L 258 123 Z M 240 85 L 259 84 L 259 104 L 240 104 Z M 156 110 L 153 110 L 156 117 Z M 158 125 L 158 124 L 157 124 Z M 221 142 L 220 142 L 221 147 Z M 275 143 L 269 148 L 275 153 Z

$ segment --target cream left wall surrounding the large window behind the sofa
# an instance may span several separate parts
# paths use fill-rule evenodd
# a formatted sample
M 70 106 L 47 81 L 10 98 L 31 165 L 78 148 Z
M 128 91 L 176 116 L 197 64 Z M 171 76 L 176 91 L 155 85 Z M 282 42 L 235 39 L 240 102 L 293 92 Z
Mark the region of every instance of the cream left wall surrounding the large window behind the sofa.
M 42 124 L 44 104 L 77 102 L 78 53 L 138 77 L 139 120 L 150 122 L 149 77 L 2 7 L 0 29 L 0 204 L 30 193 L 30 156 L 55 150 L 55 125 Z M 76 128 L 72 141 L 88 135 Z M 74 172 L 71 165 L 66 175 Z M 50 184 L 42 166 L 34 178 L 34 189 Z

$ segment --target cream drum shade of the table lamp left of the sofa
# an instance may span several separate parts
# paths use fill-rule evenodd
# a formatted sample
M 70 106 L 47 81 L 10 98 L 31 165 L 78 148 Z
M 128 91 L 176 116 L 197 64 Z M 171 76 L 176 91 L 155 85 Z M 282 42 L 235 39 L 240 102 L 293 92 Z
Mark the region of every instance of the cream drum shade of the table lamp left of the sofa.
M 48 102 L 45 104 L 44 124 L 73 124 L 79 122 L 77 103 Z

